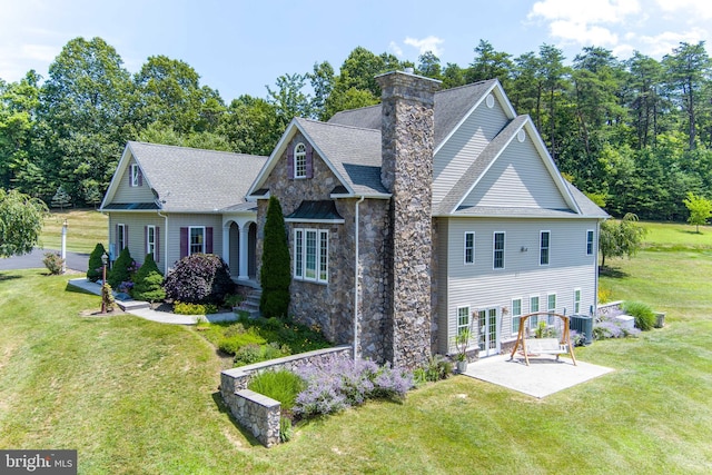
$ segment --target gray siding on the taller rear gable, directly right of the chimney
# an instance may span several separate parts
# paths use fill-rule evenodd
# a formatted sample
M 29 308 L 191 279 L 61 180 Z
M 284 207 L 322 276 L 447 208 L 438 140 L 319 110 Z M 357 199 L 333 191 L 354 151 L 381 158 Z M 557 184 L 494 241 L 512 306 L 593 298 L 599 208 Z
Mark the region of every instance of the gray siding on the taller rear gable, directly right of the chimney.
M 500 102 L 484 101 L 462 123 L 433 159 L 433 202 L 439 202 L 469 168 L 473 160 L 508 122 Z

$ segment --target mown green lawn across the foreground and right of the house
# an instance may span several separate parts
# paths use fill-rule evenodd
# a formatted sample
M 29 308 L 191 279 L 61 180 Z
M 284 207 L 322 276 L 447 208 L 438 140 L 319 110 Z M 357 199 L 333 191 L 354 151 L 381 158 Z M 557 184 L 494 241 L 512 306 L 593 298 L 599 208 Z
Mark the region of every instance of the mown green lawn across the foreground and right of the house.
M 3 271 L 0 447 L 77 448 L 82 474 L 706 474 L 712 256 L 665 247 L 611 260 L 602 279 L 668 311 L 663 329 L 577 350 L 616 372 L 542 400 L 457 376 L 271 449 L 225 413 L 220 359 L 194 329 L 81 317 L 100 301 L 69 277 Z

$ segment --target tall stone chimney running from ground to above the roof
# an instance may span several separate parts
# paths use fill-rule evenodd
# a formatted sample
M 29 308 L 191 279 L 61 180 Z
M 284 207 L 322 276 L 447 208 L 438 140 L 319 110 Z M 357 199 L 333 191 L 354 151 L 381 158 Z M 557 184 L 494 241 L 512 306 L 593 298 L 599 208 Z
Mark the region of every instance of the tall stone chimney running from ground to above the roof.
M 382 95 L 380 179 L 390 191 L 384 358 L 413 368 L 431 355 L 434 101 L 441 81 L 393 71 Z

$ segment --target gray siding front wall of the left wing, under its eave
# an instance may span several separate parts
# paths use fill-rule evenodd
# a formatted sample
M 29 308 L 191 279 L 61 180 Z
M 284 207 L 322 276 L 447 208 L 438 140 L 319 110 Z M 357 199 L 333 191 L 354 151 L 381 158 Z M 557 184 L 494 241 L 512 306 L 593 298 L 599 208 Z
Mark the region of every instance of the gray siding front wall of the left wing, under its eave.
M 109 243 L 116 243 L 116 225 L 128 225 L 129 253 L 139 264 L 146 258 L 145 227 L 159 228 L 160 260 L 156 263 L 165 274 L 166 269 L 174 267 L 180 259 L 180 228 L 189 226 L 205 226 L 212 228 L 212 253 L 221 256 L 222 253 L 222 217 L 221 215 L 168 215 L 168 229 L 162 216 L 152 212 L 110 212 L 109 214 Z M 168 239 L 168 240 L 167 240 Z M 115 245 L 116 246 L 116 245 Z M 166 255 L 168 251 L 168 255 Z

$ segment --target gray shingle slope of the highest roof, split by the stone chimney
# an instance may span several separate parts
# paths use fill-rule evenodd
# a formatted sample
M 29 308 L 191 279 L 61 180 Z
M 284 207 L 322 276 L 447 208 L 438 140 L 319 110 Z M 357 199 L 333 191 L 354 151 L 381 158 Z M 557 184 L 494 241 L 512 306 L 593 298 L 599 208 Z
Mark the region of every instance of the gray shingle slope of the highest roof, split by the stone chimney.
M 435 92 L 435 147 L 445 140 L 496 81 L 496 79 L 490 79 Z M 380 105 L 343 110 L 335 113 L 328 123 L 380 130 Z

